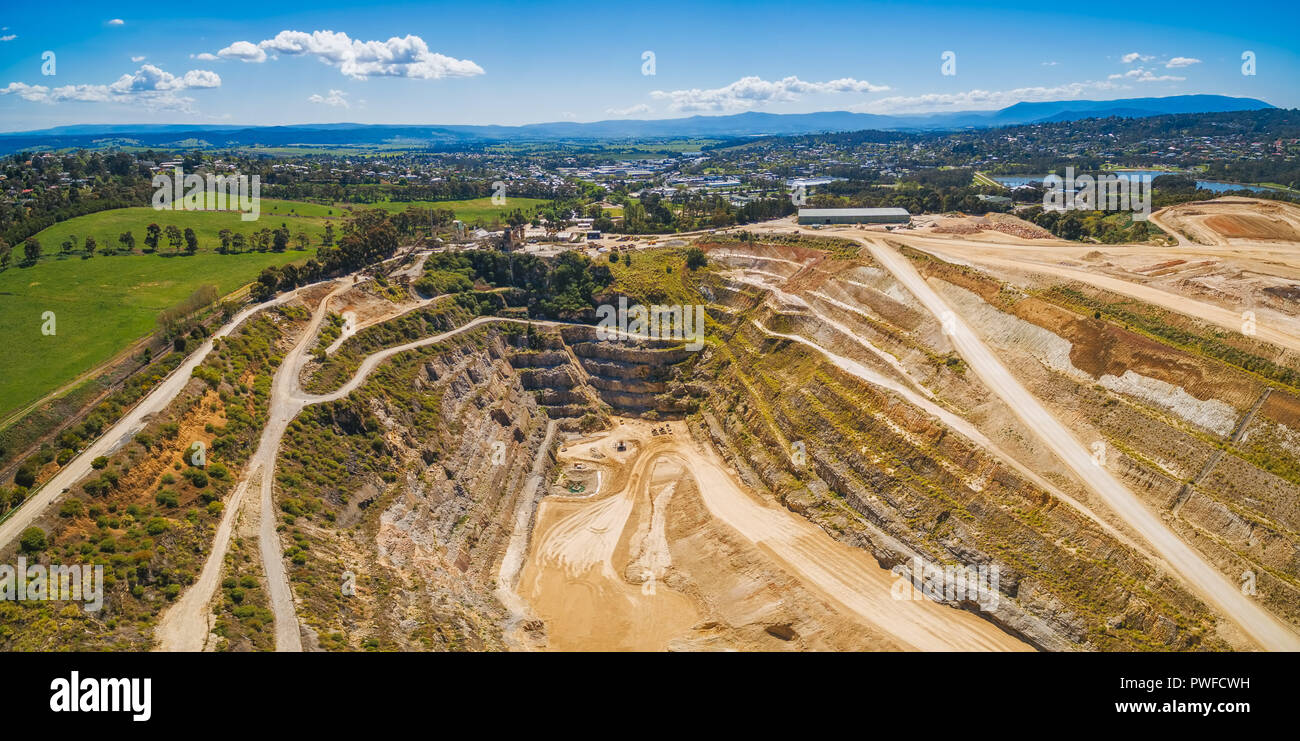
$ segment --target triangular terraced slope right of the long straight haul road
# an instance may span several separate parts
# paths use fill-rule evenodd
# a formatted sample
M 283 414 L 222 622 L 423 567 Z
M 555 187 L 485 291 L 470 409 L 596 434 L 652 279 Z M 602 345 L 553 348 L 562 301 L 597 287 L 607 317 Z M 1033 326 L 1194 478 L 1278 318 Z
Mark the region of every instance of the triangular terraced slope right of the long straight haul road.
M 1228 581 L 1300 624 L 1300 456 L 1286 436 L 1251 441 L 1252 430 L 1300 429 L 1294 352 L 1089 286 L 1022 291 L 911 257 L 1058 419 L 1104 441 L 1108 467 L 1135 495 Z

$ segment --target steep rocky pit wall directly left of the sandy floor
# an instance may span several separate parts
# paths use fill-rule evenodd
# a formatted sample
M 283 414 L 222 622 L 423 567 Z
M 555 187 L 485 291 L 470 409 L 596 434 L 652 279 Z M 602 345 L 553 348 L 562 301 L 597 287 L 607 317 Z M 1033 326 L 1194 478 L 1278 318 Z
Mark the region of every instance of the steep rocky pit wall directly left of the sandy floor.
M 399 356 L 303 415 L 281 478 L 341 464 L 320 489 L 322 517 L 292 524 L 312 554 L 291 571 L 299 616 L 321 647 L 503 647 L 497 566 L 534 464 L 549 469 L 546 426 L 603 413 L 568 352 L 538 350 L 547 343 L 563 347 L 490 325 Z M 356 595 L 341 603 L 344 573 Z

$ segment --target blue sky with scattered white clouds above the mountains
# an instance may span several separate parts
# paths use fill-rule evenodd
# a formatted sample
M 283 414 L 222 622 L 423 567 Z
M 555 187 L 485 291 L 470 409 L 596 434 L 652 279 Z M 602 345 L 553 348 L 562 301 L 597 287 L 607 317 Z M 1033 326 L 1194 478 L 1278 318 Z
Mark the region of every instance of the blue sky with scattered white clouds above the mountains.
M 0 130 L 910 113 L 1180 94 L 1297 108 L 1297 8 L 29 3 L 0 16 Z M 1245 51 L 1254 75 L 1242 73 Z

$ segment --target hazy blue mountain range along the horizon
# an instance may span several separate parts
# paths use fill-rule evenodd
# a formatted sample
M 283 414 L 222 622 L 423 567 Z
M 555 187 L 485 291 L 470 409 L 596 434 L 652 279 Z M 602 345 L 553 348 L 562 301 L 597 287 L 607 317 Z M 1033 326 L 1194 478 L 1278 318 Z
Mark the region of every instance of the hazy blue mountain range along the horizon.
M 1169 113 L 1219 113 L 1274 108 L 1253 98 L 1174 95 L 1121 100 L 1057 100 L 1017 103 L 1000 110 L 963 110 L 909 116 L 876 113 L 736 113 L 689 118 L 612 120 L 590 124 L 552 122 L 523 126 L 389 126 L 372 124 L 300 124 L 294 126 L 230 125 L 75 125 L 39 131 L 0 134 L 0 152 L 133 144 L 157 148 L 286 147 L 286 146 L 404 146 L 463 147 L 484 142 L 560 139 L 654 139 L 679 136 L 760 136 L 861 131 L 936 131 L 1019 124 L 1078 121 L 1121 116 L 1141 118 Z

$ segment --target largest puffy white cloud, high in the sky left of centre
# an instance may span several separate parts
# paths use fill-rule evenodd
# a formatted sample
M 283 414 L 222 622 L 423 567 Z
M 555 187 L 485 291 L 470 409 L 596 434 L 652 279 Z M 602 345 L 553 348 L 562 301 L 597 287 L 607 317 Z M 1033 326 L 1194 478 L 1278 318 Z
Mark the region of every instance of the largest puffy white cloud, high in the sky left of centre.
M 273 39 L 235 42 L 217 52 L 225 58 L 264 62 L 268 53 L 313 56 L 354 79 L 408 77 L 441 79 L 484 74 L 477 64 L 430 52 L 420 36 L 393 36 L 386 42 L 363 42 L 335 31 L 281 31 Z

